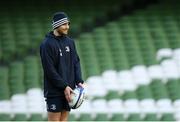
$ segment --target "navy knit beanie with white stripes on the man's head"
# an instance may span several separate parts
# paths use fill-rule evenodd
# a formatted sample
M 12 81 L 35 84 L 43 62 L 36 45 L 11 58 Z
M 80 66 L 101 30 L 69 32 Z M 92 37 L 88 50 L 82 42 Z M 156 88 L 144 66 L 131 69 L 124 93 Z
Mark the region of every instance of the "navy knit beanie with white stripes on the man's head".
M 57 12 L 54 14 L 53 22 L 52 22 L 53 29 L 56 29 L 57 27 L 65 24 L 65 23 L 69 23 L 69 19 L 68 19 L 68 16 L 66 15 L 66 13 Z

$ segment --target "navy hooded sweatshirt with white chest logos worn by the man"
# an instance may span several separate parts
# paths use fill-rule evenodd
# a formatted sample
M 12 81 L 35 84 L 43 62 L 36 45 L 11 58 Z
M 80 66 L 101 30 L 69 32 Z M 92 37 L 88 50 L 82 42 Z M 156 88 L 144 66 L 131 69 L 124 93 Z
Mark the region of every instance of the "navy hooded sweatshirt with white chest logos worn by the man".
M 64 96 L 66 86 L 75 88 L 83 83 L 79 56 L 72 39 L 46 35 L 40 45 L 40 56 L 44 70 L 44 97 Z

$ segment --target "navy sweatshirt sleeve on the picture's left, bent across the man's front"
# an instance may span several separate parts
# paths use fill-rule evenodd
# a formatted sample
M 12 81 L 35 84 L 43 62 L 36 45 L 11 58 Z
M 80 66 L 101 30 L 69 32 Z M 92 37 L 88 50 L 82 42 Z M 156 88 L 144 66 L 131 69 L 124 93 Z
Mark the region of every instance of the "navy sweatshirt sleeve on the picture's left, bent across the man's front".
M 57 73 L 55 68 L 55 56 L 53 50 L 48 44 L 43 44 L 40 47 L 41 62 L 44 70 L 44 75 L 59 89 L 65 89 L 68 85 L 63 81 L 61 76 Z

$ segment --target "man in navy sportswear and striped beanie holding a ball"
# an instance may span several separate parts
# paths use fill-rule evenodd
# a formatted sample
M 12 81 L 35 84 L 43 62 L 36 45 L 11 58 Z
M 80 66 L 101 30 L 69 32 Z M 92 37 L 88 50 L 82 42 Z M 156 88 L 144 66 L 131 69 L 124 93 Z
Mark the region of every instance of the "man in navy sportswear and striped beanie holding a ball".
M 48 121 L 67 121 L 73 89 L 83 87 L 79 56 L 74 41 L 67 36 L 69 24 L 64 12 L 55 13 L 53 31 L 40 46 Z

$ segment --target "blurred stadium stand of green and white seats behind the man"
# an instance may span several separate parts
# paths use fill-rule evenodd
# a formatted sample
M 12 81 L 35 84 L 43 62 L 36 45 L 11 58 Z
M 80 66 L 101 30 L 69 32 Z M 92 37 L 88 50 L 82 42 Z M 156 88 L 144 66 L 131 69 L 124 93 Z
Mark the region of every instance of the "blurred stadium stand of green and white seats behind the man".
M 11 13 L 1 7 L 0 120 L 47 120 L 38 46 L 51 30 L 49 17 L 61 8 L 76 23 L 71 34 L 79 34 L 87 84 L 87 100 L 69 120 L 179 121 L 180 2 L 159 0 L 108 20 L 110 11 L 134 1 L 21 1 L 10 5 Z

